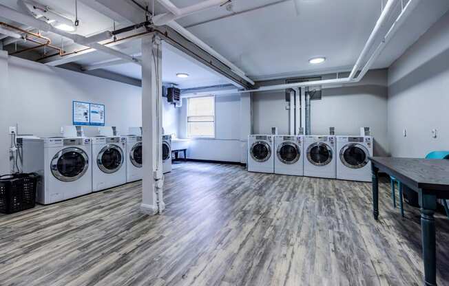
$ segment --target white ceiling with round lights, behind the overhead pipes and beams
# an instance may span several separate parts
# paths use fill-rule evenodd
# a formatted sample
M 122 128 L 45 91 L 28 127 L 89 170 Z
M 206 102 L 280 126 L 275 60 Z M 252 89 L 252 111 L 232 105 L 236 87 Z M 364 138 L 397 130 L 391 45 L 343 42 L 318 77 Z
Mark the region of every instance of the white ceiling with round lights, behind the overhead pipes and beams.
M 74 15 L 74 0 L 38 1 L 58 11 Z M 131 3 L 130 0 L 114 1 L 123 2 L 124 8 L 129 7 Z M 147 2 L 138 1 L 142 4 Z M 199 0 L 171 1 L 181 8 L 198 3 Z M 298 3 L 299 14 L 295 10 L 293 1 Z M 227 10 L 226 5 L 211 8 L 179 19 L 178 23 L 187 27 L 190 32 L 211 45 L 253 79 L 315 74 L 347 70 L 352 67 L 379 17 L 381 1 L 233 0 L 231 11 Z M 112 19 L 87 7 L 82 1 L 78 2 L 81 26 L 77 33 L 87 36 L 112 28 Z M 428 0 L 421 1 L 415 13 L 397 32 L 397 36 L 388 44 L 374 67 L 390 66 L 449 9 L 448 0 L 432 0 L 431 2 L 432 4 L 429 5 Z M 0 3 L 10 5 L 12 8 L 16 5 L 15 0 L 0 0 Z M 272 5 L 259 8 L 268 4 Z M 156 2 L 156 11 L 160 10 L 162 8 Z M 245 10 L 249 11 L 239 14 Z M 390 20 L 393 21 L 393 19 Z M 117 23 L 118 27 L 128 24 Z M 57 45 L 58 41 L 54 43 Z M 182 87 L 227 83 L 215 72 L 211 72 L 174 48 L 167 47 L 169 46 L 163 48 L 164 81 L 178 83 Z M 140 41 L 132 41 L 114 48 L 127 54 L 139 54 Z M 308 60 L 313 56 L 326 56 L 327 61 L 321 65 L 310 65 Z M 76 63 L 87 65 L 108 59 L 110 56 L 93 52 L 78 58 Z M 124 76 L 140 78 L 140 68 L 133 64 L 105 69 Z M 176 78 L 177 72 L 187 72 L 190 77 L 180 80 Z

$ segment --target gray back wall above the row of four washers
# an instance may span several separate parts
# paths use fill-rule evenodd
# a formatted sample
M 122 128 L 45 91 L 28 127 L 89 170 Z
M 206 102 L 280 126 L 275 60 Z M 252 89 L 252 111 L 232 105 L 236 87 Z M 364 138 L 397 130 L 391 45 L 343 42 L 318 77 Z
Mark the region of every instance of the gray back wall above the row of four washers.
M 335 75 L 325 75 L 331 78 Z M 341 77 L 346 74 L 340 75 Z M 276 85 L 285 80 L 271 80 L 260 85 Z M 358 135 L 359 128 L 370 126 L 375 137 L 375 154 L 388 153 L 387 139 L 387 72 L 372 70 L 357 84 L 326 88 L 322 100 L 311 101 L 311 133 L 328 134 L 329 126 L 337 135 Z M 289 133 L 289 110 L 284 91 L 253 94 L 253 133 L 267 134 L 271 126 L 279 133 Z

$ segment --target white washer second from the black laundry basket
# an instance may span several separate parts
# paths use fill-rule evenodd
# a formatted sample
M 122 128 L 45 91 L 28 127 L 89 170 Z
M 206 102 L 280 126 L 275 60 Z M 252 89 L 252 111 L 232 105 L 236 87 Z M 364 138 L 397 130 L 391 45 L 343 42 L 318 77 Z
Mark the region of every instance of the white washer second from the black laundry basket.
M 126 138 L 92 137 L 92 191 L 126 183 Z

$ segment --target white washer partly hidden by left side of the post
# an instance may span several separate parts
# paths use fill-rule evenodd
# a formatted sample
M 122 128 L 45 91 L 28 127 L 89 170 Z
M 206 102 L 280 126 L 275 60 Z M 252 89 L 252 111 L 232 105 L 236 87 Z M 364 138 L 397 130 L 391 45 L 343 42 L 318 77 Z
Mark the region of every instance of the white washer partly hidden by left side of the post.
M 142 179 L 142 136 L 126 136 L 126 181 Z

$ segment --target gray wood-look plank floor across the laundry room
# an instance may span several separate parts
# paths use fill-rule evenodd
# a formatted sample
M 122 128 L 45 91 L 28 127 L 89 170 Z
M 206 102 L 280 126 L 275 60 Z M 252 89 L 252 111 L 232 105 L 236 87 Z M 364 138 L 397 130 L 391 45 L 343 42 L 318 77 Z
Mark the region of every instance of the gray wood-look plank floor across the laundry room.
M 163 215 L 140 182 L 0 217 L 0 285 L 422 285 L 419 211 L 380 184 L 180 163 Z M 437 214 L 438 283 L 449 220 Z

